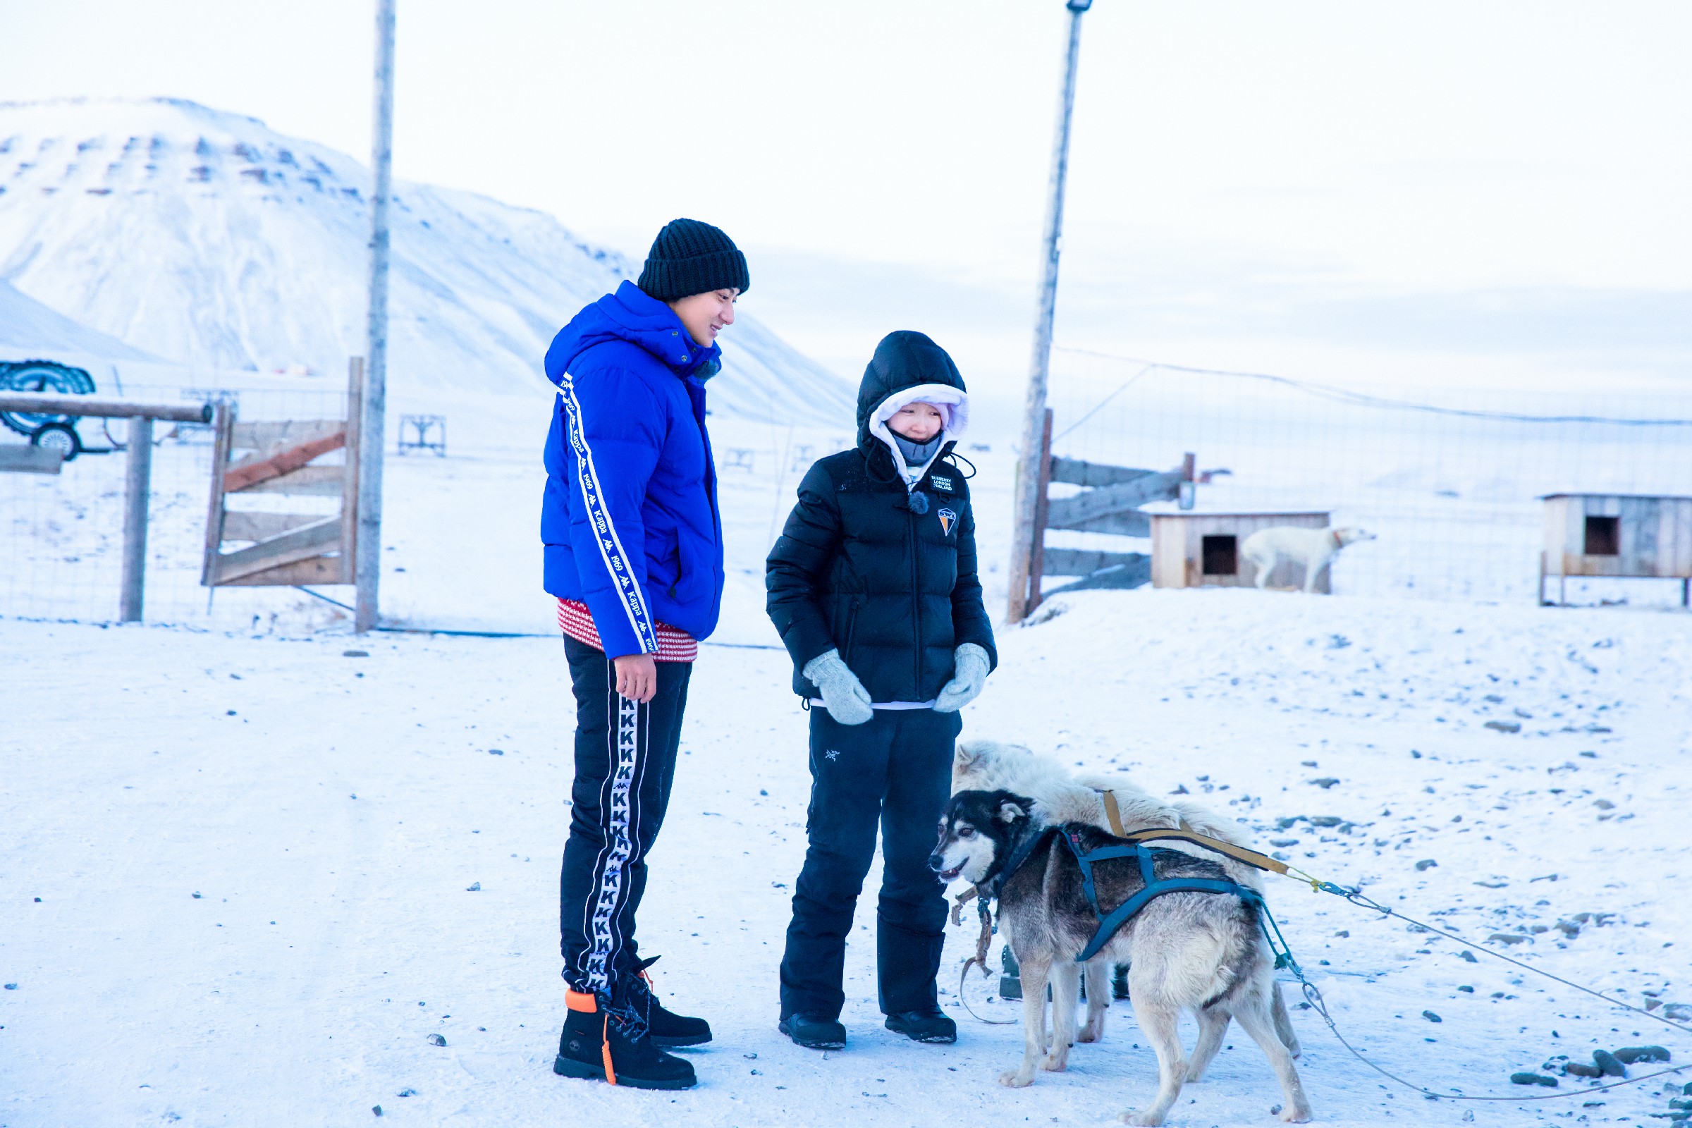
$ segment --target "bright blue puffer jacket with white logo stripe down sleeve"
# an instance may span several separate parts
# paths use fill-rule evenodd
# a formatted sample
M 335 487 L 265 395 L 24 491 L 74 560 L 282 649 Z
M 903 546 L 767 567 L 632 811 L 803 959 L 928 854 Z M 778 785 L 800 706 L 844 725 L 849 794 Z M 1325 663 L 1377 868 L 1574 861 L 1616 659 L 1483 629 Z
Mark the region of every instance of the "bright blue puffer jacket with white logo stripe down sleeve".
M 719 367 L 670 306 L 623 282 L 547 350 L 558 386 L 540 538 L 547 590 L 587 604 L 606 654 L 658 649 L 656 622 L 711 634 L 722 519 L 704 379 Z

